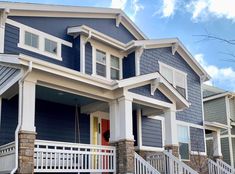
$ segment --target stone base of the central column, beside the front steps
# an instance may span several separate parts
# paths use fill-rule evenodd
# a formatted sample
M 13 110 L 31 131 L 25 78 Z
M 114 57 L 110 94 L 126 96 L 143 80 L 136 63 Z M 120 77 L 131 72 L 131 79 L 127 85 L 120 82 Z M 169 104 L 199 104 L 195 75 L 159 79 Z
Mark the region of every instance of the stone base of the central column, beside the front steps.
M 120 140 L 110 143 L 116 146 L 116 167 L 117 173 L 134 173 L 135 149 L 133 140 Z

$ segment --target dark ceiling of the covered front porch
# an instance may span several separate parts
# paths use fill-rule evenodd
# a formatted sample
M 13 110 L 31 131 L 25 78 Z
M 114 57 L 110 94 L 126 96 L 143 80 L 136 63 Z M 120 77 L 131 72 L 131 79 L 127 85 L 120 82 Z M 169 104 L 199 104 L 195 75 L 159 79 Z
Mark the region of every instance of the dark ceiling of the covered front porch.
M 50 102 L 61 103 L 65 105 L 79 106 L 88 105 L 94 102 L 98 102 L 96 99 L 47 88 L 43 86 L 36 87 L 36 98 L 41 100 L 47 100 Z M 102 101 L 99 101 L 102 102 Z

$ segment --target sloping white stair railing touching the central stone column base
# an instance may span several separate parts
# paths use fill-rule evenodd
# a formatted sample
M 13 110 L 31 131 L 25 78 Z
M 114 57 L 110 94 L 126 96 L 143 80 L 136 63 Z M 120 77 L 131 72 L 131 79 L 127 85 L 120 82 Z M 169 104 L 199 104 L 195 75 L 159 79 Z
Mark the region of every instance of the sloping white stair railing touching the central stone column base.
M 135 153 L 135 174 L 160 174 L 153 166 Z

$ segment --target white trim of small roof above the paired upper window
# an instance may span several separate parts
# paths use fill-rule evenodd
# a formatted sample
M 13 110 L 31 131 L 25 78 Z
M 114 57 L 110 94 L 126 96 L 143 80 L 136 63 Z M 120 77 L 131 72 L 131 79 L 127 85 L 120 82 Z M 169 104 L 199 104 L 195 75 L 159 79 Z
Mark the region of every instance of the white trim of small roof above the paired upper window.
M 108 45 L 111 45 L 113 47 L 118 48 L 121 51 L 127 51 L 127 49 L 131 49 L 134 45 L 134 41 L 130 41 L 127 44 L 124 44 L 108 35 L 105 35 L 97 30 L 94 30 L 93 28 L 90 28 L 86 25 L 81 25 L 77 27 L 70 27 L 67 29 L 67 34 L 69 35 L 77 35 L 77 34 L 86 34 L 89 36 L 91 33 L 91 38 L 97 39 L 99 41 L 102 41 Z

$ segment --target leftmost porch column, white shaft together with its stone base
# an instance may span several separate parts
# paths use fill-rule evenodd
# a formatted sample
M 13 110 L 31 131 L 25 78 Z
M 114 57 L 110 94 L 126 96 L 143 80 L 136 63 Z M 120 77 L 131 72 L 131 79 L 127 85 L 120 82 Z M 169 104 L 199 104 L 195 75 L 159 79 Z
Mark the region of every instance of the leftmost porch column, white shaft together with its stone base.
M 19 85 L 19 174 L 34 172 L 35 87 L 36 82 L 27 80 Z

